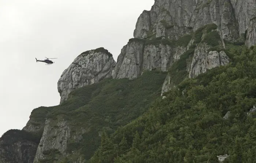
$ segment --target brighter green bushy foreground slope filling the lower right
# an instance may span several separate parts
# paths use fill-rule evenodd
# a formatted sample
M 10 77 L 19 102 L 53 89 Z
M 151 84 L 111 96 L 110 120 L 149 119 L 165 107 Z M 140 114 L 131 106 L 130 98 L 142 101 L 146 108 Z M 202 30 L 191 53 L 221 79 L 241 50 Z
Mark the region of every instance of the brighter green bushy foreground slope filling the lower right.
M 233 60 L 187 79 L 138 119 L 105 133 L 91 163 L 256 162 L 256 48 L 233 46 Z M 227 111 L 231 114 L 223 118 Z

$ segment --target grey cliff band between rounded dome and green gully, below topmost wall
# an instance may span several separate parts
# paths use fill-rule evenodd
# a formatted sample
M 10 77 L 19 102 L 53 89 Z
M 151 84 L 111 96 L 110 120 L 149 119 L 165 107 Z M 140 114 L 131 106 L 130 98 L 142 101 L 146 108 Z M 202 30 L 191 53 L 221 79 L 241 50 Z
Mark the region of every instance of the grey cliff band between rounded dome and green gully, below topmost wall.
M 155 68 L 168 71 L 174 61 L 186 51 L 187 46 L 175 47 L 171 42 L 166 41 L 130 39 L 117 58 L 113 78 L 134 79 L 143 71 L 151 71 Z

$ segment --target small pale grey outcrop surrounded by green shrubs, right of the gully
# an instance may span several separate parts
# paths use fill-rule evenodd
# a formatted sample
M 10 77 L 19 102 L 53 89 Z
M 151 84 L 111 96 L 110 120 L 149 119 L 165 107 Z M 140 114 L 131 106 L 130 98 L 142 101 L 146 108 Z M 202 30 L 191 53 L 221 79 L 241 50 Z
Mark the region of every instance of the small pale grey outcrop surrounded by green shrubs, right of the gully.
M 219 67 L 221 65 L 227 65 L 229 63 L 229 57 L 224 51 L 210 51 L 207 44 L 201 44 L 196 47 L 194 57 L 189 69 L 189 78 L 196 77 L 200 73 L 204 73 L 207 69 Z

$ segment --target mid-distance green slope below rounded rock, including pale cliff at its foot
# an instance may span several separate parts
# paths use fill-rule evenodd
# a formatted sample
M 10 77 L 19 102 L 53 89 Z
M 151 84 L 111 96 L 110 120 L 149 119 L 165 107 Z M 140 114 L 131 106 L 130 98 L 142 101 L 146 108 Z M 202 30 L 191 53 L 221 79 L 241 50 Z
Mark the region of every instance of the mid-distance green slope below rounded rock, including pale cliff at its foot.
M 104 79 L 77 88 L 58 106 L 33 110 L 36 123 L 27 126 L 41 126 L 46 119 L 34 163 L 89 159 L 100 145 L 102 131 L 112 133 L 143 114 L 160 96 L 165 77 L 155 70 L 135 80 Z M 45 117 L 38 116 L 42 112 Z

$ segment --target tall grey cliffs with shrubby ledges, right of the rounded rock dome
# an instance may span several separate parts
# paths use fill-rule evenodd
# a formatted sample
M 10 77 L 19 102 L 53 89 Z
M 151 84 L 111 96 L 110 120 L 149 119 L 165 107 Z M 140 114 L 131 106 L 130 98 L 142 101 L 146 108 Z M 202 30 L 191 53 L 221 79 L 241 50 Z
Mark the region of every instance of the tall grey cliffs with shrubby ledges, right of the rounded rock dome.
M 152 68 L 169 71 L 188 53 L 191 59 L 187 58 L 182 79 L 226 65 L 226 43 L 248 47 L 256 43 L 255 7 L 253 0 L 155 0 L 151 10 L 139 16 L 134 38 L 121 50 L 113 77 L 134 79 Z M 175 86 L 170 75 L 162 94 Z

